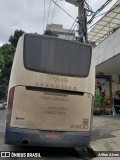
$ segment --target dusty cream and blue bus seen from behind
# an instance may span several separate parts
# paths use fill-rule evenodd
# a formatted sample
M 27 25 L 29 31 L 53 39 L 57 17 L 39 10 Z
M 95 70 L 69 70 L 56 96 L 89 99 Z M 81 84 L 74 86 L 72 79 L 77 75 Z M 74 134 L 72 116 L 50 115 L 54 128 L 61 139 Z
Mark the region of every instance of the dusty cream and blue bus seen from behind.
M 94 91 L 90 45 L 24 34 L 10 75 L 5 143 L 89 146 Z

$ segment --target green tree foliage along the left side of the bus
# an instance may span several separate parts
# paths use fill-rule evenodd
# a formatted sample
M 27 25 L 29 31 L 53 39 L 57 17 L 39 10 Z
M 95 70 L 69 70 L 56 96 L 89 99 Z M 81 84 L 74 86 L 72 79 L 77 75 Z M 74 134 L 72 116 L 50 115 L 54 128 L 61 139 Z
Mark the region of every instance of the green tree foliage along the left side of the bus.
M 15 48 L 23 33 L 22 30 L 16 30 L 9 37 L 10 44 L 6 43 L 0 48 L 0 100 L 6 98 Z

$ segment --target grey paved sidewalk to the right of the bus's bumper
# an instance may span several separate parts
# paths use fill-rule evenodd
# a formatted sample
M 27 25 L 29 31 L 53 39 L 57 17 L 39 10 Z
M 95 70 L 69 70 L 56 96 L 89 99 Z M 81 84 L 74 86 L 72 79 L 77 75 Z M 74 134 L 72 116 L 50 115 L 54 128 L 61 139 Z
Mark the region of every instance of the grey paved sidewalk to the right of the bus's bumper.
M 120 115 L 94 116 L 92 130 L 93 150 L 120 151 Z

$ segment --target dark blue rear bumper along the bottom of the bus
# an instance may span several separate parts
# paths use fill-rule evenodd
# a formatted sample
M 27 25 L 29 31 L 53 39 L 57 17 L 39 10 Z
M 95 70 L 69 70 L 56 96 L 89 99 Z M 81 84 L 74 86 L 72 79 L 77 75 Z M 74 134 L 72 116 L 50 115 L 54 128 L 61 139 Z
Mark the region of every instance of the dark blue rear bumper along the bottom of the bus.
M 11 128 L 7 125 L 5 144 L 47 146 L 47 147 L 86 147 L 90 143 L 89 132 L 59 132 Z

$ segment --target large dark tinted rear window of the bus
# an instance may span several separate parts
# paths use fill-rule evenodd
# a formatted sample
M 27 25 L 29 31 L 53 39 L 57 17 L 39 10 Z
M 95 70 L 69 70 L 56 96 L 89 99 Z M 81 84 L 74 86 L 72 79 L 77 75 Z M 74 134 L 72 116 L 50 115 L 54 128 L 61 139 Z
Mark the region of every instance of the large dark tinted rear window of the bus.
M 87 77 L 91 64 L 90 46 L 54 37 L 26 34 L 26 69 L 71 77 Z

